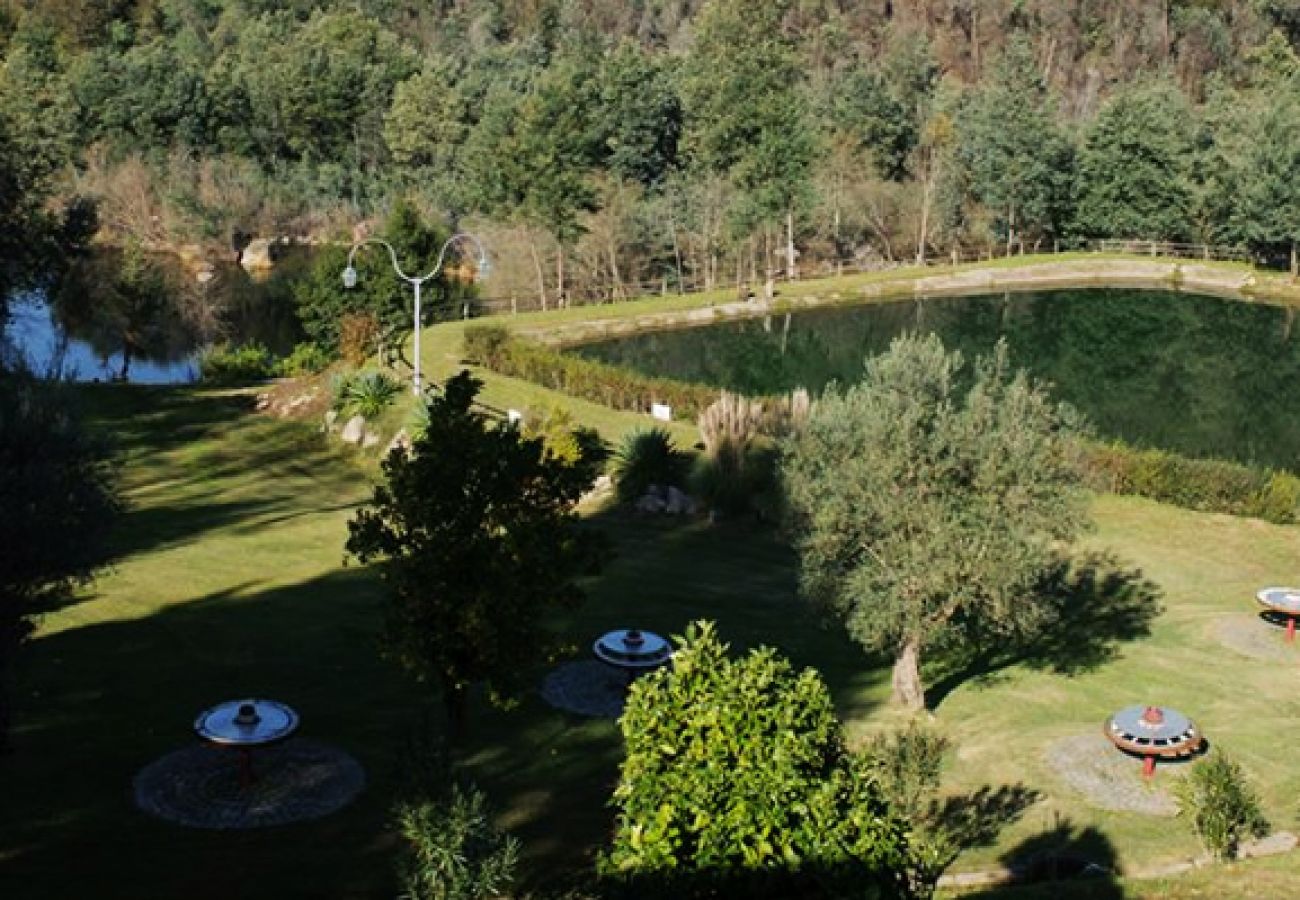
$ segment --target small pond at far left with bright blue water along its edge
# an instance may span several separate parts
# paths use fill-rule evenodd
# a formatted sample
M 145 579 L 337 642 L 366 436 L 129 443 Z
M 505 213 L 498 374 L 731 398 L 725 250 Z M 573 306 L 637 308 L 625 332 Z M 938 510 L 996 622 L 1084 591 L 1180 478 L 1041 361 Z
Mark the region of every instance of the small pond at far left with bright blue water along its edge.
M 8 352 L 32 372 L 75 381 L 186 384 L 198 380 L 208 345 L 255 341 L 287 354 L 303 339 L 289 293 L 300 265 L 263 281 L 224 265 L 200 285 L 166 260 L 155 264 L 166 284 L 161 297 L 142 299 L 108 286 L 116 260 L 104 252 L 56 291 L 10 298 Z

